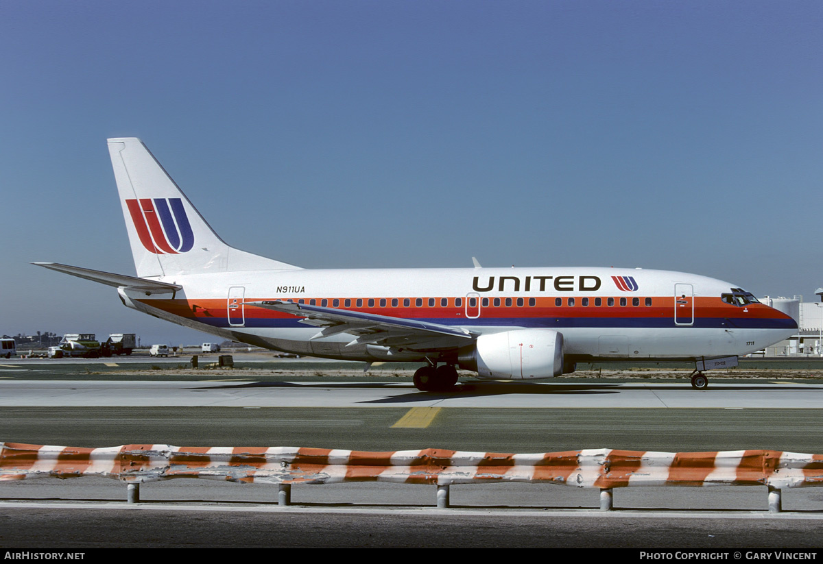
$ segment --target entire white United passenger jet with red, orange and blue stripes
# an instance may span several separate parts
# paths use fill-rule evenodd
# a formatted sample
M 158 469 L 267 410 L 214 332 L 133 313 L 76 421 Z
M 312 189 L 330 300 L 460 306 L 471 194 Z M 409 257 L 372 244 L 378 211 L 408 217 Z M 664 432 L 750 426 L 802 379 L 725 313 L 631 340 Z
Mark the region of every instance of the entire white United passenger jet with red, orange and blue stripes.
M 230 247 L 142 141 L 109 139 L 137 276 L 36 265 L 117 288 L 122 302 L 283 353 L 425 363 L 421 391 L 457 368 L 551 378 L 593 361 L 690 361 L 704 371 L 788 338 L 797 323 L 737 284 L 625 268 L 307 270 Z

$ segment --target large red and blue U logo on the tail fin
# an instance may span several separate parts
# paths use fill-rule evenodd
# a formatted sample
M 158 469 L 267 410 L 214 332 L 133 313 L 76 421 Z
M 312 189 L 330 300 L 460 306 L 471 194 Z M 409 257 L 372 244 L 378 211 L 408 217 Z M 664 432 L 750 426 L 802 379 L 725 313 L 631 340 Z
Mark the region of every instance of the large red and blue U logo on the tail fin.
M 190 251 L 194 233 L 180 198 L 126 200 L 140 243 L 156 255 Z

